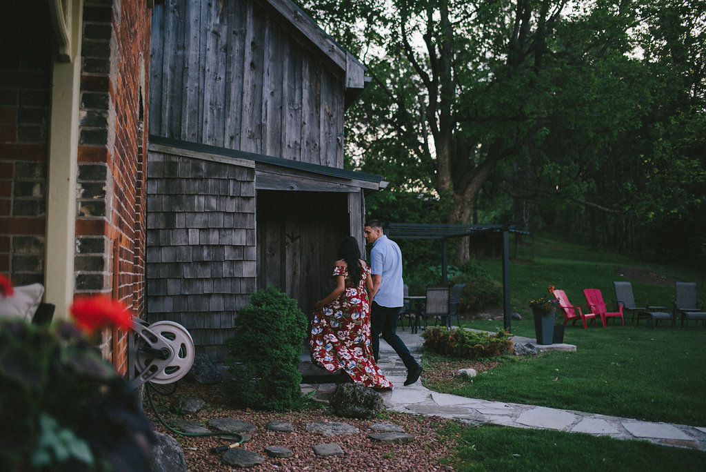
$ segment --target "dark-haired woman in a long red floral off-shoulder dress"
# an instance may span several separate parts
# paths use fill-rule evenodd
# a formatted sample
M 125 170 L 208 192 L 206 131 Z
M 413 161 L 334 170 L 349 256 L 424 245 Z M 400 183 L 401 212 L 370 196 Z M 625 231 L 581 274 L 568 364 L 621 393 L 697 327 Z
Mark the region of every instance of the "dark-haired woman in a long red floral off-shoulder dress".
M 316 302 L 311 321 L 311 360 L 329 372 L 342 369 L 353 382 L 366 387 L 391 389 L 393 384 L 378 368 L 371 349 L 370 267 L 360 259 L 354 237 L 341 240 L 338 256 L 341 259 L 333 267 L 336 288 Z

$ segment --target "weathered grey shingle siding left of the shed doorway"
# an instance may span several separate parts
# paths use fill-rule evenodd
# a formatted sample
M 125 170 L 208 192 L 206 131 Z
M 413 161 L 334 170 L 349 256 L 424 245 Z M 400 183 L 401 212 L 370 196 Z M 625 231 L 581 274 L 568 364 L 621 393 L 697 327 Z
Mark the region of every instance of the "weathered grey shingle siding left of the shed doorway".
M 150 146 L 148 177 L 148 321 L 176 321 L 225 360 L 256 290 L 254 164 Z

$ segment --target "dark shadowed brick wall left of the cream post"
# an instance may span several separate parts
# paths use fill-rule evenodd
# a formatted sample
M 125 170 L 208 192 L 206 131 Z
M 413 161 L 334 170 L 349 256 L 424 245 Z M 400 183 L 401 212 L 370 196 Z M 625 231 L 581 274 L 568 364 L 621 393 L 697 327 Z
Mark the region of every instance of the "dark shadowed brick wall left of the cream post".
M 44 281 L 52 59 L 44 1 L 0 7 L 0 273 Z

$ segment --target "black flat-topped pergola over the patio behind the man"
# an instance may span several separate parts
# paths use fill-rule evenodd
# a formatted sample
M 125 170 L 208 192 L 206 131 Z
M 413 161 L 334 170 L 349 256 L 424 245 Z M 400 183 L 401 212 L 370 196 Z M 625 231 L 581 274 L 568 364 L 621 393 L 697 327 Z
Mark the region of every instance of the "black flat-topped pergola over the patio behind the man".
M 510 232 L 521 232 L 508 225 L 432 225 L 424 223 L 384 223 L 385 235 L 392 240 L 441 240 L 441 279 L 448 283 L 448 240 L 455 237 L 499 232 L 503 237 L 503 326 L 510 329 Z

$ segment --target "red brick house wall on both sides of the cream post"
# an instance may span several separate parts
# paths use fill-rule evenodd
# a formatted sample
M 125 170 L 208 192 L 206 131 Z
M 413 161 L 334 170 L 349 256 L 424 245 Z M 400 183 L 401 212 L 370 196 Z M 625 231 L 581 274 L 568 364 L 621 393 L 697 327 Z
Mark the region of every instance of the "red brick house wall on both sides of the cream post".
M 151 10 L 85 0 L 81 44 L 76 292 L 145 314 L 145 158 Z M 0 273 L 44 281 L 52 24 L 43 0 L 0 6 Z M 114 256 L 115 254 L 115 256 Z M 125 333 L 104 352 L 126 372 Z

